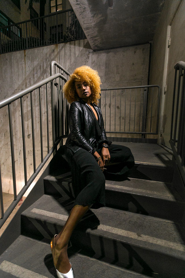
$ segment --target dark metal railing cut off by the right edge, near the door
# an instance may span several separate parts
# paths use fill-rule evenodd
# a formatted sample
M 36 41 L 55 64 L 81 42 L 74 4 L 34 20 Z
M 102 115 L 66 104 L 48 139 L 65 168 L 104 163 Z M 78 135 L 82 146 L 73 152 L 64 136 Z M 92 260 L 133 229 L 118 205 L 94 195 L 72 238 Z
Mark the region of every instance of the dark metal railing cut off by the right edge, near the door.
M 185 62 L 179 61 L 174 68 L 175 77 L 169 142 L 185 184 Z

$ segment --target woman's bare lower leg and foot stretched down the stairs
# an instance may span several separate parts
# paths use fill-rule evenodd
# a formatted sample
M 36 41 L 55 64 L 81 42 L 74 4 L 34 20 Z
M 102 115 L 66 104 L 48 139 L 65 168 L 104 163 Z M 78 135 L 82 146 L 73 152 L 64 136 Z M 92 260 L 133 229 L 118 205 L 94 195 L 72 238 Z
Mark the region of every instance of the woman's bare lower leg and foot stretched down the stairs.
M 53 258 L 53 263 L 56 269 L 62 273 L 67 273 L 71 264 L 69 263 L 69 258 L 67 255 L 67 246 L 71 234 L 77 225 L 78 221 L 84 216 L 86 211 L 90 206 L 73 206 L 68 219 L 60 233 L 55 237 L 55 255 Z

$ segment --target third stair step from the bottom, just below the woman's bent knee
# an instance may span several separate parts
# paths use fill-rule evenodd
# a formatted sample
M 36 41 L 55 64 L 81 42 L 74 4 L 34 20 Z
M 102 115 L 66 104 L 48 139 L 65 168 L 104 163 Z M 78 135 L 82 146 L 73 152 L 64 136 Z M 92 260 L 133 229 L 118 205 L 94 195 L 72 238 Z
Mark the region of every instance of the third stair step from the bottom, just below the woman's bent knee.
M 70 173 L 48 175 L 45 194 L 74 199 Z M 184 213 L 184 201 L 170 183 L 128 178 L 106 180 L 106 206 L 135 213 L 178 220 Z

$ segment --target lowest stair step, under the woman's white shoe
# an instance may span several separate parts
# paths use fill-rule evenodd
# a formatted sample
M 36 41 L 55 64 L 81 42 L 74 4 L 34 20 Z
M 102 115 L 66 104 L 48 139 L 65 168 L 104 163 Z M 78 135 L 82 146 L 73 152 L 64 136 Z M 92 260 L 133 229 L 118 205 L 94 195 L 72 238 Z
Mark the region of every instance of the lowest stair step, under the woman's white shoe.
M 147 278 L 118 266 L 72 252 L 69 259 L 75 278 Z M 56 271 L 53 266 L 50 245 L 25 236 L 19 236 L 0 256 L 0 277 L 3 278 L 53 278 Z

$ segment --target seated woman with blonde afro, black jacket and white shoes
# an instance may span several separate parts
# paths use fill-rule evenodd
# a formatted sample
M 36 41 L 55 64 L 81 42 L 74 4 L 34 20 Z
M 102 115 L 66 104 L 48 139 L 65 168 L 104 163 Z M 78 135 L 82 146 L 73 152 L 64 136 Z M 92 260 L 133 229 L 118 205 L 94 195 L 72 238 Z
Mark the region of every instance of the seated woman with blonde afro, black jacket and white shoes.
M 129 148 L 112 145 L 107 140 L 101 109 L 98 72 L 82 66 L 73 72 L 63 87 L 69 109 L 70 134 L 66 140 L 66 158 L 72 172 L 75 203 L 58 235 L 51 240 L 51 252 L 57 276 L 74 277 L 67 256 L 71 234 L 90 207 L 105 206 L 105 176 L 103 172 L 124 175 L 133 165 Z

